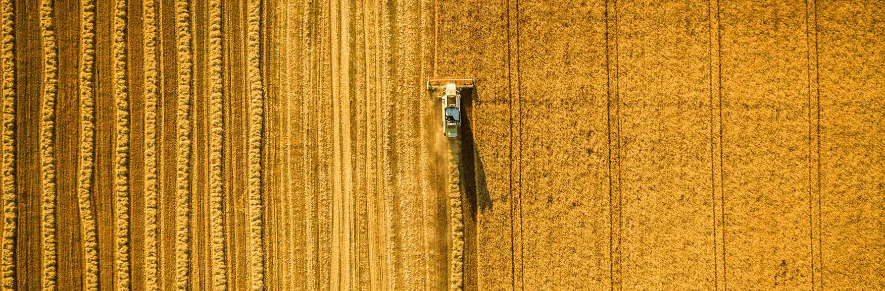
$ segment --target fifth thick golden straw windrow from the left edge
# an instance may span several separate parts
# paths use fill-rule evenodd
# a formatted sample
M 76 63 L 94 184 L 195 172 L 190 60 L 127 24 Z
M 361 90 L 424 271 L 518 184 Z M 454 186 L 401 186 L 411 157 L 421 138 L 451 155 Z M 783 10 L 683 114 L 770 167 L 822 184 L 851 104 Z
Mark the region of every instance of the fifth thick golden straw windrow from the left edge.
M 94 0 L 91 0 L 94 1 Z M 158 291 L 157 106 L 159 95 L 157 0 L 142 3 L 144 21 L 144 288 Z

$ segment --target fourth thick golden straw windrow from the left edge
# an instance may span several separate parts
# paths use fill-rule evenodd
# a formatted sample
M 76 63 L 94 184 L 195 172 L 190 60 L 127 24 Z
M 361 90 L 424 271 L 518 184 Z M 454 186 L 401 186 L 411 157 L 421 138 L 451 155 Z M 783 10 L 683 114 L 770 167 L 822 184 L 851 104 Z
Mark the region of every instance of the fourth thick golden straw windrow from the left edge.
M 127 84 L 126 20 L 127 0 L 116 0 L 113 19 L 113 91 L 117 106 L 114 144 L 114 212 L 116 251 L 113 253 L 118 291 L 127 291 L 132 274 L 129 269 L 129 91 Z

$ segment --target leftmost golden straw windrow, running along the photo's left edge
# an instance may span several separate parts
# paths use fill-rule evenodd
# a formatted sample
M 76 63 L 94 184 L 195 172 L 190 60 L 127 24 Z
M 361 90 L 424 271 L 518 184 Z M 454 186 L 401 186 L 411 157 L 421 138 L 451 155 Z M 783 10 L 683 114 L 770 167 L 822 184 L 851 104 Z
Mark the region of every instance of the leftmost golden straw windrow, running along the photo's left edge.
M 0 272 L 2 282 L 0 290 L 12 291 L 16 289 L 16 265 L 15 265 L 15 239 L 18 232 L 18 197 L 15 183 L 16 163 L 16 139 L 15 139 L 15 14 L 13 11 L 14 0 L 4 0 L 2 9 L 3 18 L 3 46 L 0 46 L 0 55 L 3 57 L 3 255 L 0 257 Z

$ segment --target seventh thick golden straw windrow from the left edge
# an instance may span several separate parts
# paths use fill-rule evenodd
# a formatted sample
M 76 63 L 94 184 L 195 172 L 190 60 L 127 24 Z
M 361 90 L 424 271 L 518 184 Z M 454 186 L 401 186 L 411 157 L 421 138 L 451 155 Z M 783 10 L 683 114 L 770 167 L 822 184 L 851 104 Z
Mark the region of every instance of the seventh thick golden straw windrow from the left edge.
M 221 1 L 209 1 L 209 231 L 212 249 L 212 290 L 227 290 L 224 227 L 224 64 L 221 51 Z

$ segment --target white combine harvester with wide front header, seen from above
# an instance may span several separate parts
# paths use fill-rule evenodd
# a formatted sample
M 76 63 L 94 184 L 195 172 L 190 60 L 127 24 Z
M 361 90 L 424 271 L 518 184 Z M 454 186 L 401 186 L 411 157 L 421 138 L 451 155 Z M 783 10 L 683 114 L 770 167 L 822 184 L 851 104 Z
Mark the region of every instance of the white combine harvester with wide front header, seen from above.
M 427 90 L 430 90 L 431 96 L 439 96 L 443 103 L 443 135 L 446 137 L 458 136 L 458 127 L 461 126 L 460 90 L 462 88 L 473 88 L 473 80 L 427 80 Z

